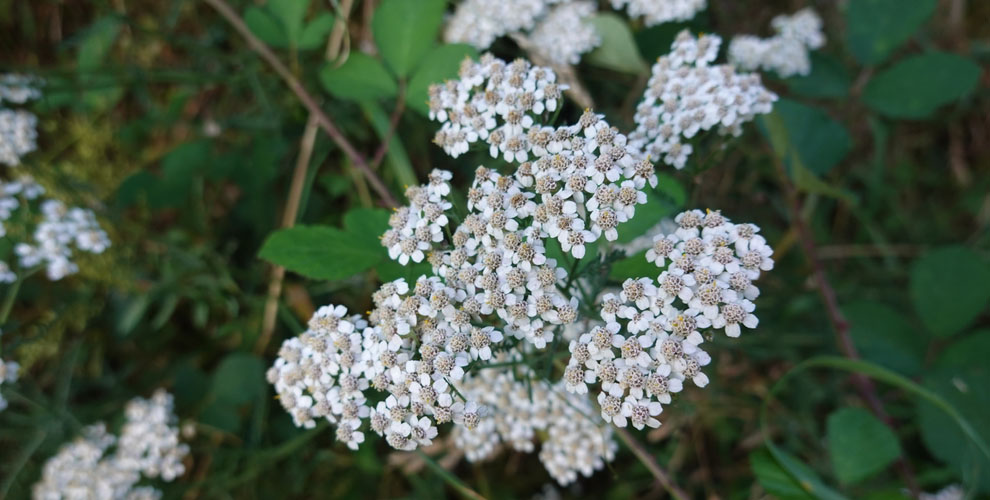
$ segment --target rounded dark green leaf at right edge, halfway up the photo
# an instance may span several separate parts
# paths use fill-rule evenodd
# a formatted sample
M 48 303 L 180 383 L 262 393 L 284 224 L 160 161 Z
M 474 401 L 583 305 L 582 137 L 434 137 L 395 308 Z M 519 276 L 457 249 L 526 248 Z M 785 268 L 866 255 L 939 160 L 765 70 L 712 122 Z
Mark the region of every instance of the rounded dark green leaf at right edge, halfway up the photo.
M 932 251 L 911 268 L 911 299 L 932 333 L 956 334 L 986 310 L 990 264 L 964 247 Z

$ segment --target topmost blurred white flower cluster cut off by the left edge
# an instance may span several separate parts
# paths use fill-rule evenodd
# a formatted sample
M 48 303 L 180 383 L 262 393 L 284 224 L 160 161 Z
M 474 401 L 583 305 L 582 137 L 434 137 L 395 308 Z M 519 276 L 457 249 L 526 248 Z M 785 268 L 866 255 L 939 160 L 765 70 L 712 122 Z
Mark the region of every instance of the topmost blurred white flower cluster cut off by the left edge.
M 21 157 L 38 148 L 38 118 L 33 113 L 9 109 L 3 104 L 24 104 L 41 92 L 34 78 L 16 74 L 0 75 L 0 163 L 16 167 Z

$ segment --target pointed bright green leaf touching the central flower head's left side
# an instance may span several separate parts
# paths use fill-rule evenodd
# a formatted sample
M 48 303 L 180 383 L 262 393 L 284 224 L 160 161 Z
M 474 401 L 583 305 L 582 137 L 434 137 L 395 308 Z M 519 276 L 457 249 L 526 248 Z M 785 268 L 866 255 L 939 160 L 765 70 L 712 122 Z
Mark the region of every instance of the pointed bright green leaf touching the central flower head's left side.
M 333 227 L 295 226 L 269 235 L 258 256 L 307 278 L 337 280 L 381 262 L 375 244 Z

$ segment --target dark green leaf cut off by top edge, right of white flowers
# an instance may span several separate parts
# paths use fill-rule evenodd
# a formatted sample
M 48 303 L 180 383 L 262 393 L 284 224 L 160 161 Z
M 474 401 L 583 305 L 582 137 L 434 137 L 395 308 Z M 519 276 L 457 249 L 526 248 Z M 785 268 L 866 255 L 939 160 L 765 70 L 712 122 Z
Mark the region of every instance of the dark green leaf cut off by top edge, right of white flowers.
M 846 10 L 849 51 L 863 64 L 883 62 L 935 11 L 936 0 L 853 0 Z

